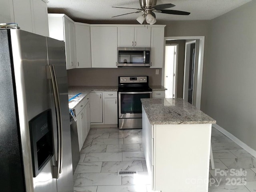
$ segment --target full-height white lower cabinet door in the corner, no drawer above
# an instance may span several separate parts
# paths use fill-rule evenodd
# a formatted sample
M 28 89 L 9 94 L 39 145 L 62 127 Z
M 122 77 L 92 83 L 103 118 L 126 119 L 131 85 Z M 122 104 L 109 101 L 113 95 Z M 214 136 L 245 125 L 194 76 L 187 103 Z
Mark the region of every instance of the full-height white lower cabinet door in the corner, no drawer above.
M 90 122 L 102 123 L 102 93 L 90 93 Z

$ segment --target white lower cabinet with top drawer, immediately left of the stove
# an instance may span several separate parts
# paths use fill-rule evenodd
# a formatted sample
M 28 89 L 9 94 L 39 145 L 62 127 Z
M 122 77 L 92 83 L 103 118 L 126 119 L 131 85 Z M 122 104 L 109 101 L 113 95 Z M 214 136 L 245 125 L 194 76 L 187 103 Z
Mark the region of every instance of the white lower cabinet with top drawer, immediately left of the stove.
M 117 92 L 104 92 L 105 124 L 117 124 Z

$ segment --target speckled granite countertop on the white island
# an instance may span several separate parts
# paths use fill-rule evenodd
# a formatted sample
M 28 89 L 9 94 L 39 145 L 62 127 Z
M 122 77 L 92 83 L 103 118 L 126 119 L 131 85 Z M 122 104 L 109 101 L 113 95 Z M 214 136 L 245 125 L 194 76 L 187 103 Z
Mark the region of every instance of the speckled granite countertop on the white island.
M 141 99 L 151 125 L 154 124 L 215 124 L 216 120 L 182 98 Z

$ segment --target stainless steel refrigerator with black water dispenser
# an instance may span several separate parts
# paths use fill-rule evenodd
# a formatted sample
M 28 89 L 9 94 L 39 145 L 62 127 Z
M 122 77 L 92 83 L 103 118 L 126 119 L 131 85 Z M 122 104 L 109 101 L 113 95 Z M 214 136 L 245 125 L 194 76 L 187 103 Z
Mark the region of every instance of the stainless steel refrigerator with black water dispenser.
M 73 192 L 64 42 L 0 29 L 0 188 Z

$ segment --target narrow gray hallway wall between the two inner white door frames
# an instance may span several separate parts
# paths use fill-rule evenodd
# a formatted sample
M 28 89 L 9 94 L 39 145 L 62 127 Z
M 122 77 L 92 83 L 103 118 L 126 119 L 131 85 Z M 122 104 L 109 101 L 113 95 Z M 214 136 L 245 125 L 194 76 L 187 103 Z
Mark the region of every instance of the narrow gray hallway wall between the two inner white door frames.
M 166 41 L 168 44 L 178 44 L 178 74 L 177 75 L 177 98 L 183 98 L 185 40 Z

